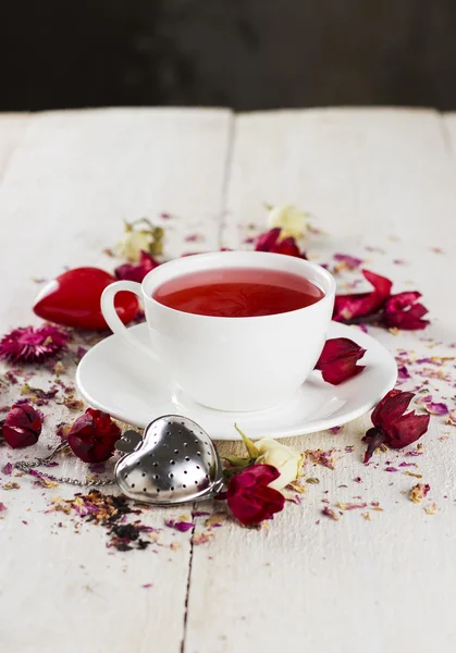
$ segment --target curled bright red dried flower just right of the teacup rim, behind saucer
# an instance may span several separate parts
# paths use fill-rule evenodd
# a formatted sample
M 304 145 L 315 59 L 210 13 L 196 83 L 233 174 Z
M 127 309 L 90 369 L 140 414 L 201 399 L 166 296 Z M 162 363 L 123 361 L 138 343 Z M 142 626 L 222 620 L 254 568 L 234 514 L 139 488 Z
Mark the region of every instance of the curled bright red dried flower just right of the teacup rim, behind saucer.
M 389 279 L 369 270 L 362 270 L 362 274 L 373 285 L 373 291 L 337 295 L 333 313 L 333 319 L 337 322 L 350 322 L 357 318 L 372 316 L 383 307 L 390 296 L 393 284 Z

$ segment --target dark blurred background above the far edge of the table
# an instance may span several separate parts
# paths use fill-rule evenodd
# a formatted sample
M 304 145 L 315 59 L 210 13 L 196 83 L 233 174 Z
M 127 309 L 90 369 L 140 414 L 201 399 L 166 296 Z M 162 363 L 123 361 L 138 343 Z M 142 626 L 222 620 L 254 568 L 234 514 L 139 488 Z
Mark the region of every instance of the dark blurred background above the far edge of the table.
M 0 111 L 456 109 L 456 0 L 0 0 Z

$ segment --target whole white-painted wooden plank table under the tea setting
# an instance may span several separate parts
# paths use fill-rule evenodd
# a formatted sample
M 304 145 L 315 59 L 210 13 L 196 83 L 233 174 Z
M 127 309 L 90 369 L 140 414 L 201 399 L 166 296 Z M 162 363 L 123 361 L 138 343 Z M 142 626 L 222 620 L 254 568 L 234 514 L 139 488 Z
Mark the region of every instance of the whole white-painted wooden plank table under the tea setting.
M 119 241 L 123 219 L 174 214 L 162 224 L 176 256 L 245 246 L 249 225 L 264 230 L 263 202 L 293 202 L 315 215 L 326 232 L 310 239 L 315 260 L 360 256 L 396 291 L 423 293 L 432 318 L 426 332 L 370 330 L 394 353 L 456 354 L 456 115 L 424 110 L 0 114 L 1 333 L 38 321 L 33 278 L 50 279 L 64 266 L 112 269 L 102 250 Z M 190 234 L 199 242 L 187 242 Z M 448 379 L 429 379 L 432 394 L 455 408 L 454 361 L 432 369 Z M 69 382 L 73 374 L 70 367 Z M 46 373 L 33 383 L 46 387 Z M 3 385 L 1 404 L 19 398 L 19 387 Z M 54 424 L 75 417 L 63 407 L 50 412 L 35 453 L 56 443 Z M 0 489 L 8 508 L 0 521 L 1 651 L 454 650 L 456 428 L 432 418 L 422 456 L 390 452 L 366 468 L 360 438 L 368 423 L 294 439 L 301 449 L 335 447 L 338 460 L 335 470 L 308 464 L 320 483 L 269 528 L 227 520 L 197 544 L 207 517 L 195 518 L 193 534 L 178 533 L 164 520 L 188 509 L 149 512 L 144 519 L 162 529 L 155 553 L 107 549 L 102 528 L 84 523 L 77 534 L 69 516 L 46 513 L 52 496 L 70 497 L 71 488 L 36 489 L 29 478 L 0 473 L 0 486 L 21 485 Z M 2 467 L 17 455 L 0 445 L 0 457 Z M 409 501 L 416 478 L 385 472 L 386 460 L 405 459 L 431 485 L 434 515 L 423 509 L 429 501 Z M 73 458 L 61 471 L 84 477 Z M 322 516 L 324 505 L 360 501 L 354 496 L 380 502 L 383 512 L 369 506 L 370 520 L 361 510 L 340 521 Z

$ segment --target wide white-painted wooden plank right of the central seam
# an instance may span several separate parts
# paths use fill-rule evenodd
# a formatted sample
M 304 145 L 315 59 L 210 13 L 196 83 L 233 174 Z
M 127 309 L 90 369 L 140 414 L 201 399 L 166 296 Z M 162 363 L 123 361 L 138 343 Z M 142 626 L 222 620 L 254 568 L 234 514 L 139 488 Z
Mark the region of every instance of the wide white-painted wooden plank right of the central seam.
M 360 256 L 366 267 L 394 279 L 397 291 L 424 293 L 434 320 L 430 329 L 399 335 L 370 329 L 372 334 L 394 353 L 452 357 L 456 312 L 446 288 L 456 248 L 454 172 L 454 156 L 433 111 L 241 115 L 223 243 L 246 246 L 244 239 L 255 231 L 249 223 L 266 229 L 263 201 L 310 210 L 315 226 L 326 232 L 307 243 L 311 258 L 329 261 L 334 251 Z M 405 386 L 428 382 L 424 387 L 454 408 L 451 361 L 445 370 L 449 383 L 417 377 Z M 288 504 L 258 531 L 224 522 L 208 544 L 194 547 L 186 653 L 449 650 L 456 634 L 454 433 L 444 418 L 433 418 L 424 455 L 387 452 L 366 468 L 360 438 L 368 426 L 365 417 L 338 435 L 291 441 L 301 451 L 335 447 L 336 469 L 308 463 L 307 476 L 320 483 L 309 484 L 300 506 Z M 239 447 L 221 447 L 222 454 L 227 451 L 238 454 Z M 437 514 L 409 501 L 419 481 L 398 467 L 400 461 L 417 464 L 410 469 L 431 484 Z M 336 509 L 336 502 L 367 502 L 368 507 L 332 521 L 321 508 Z M 383 512 L 371 502 L 380 502 Z M 200 532 L 208 530 L 204 519 Z

